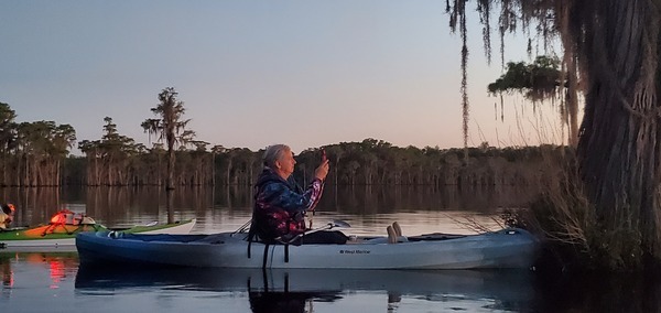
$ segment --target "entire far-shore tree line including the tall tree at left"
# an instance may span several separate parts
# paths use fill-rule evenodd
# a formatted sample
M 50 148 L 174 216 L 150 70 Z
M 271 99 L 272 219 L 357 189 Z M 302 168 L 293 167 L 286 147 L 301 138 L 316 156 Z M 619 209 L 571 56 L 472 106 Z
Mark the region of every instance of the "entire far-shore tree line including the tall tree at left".
M 111 117 L 102 137 L 76 141 L 71 125 L 17 122 L 17 114 L 0 102 L 2 186 L 142 186 L 174 188 L 194 185 L 252 185 L 262 169 L 263 150 L 225 148 L 196 140 L 187 128 L 183 101 L 174 88 L 159 94 L 155 118 L 141 127 L 155 137 L 151 147 L 121 134 Z M 84 156 L 72 155 L 76 147 Z M 400 148 L 377 139 L 311 148 L 296 156 L 295 177 L 302 184 L 319 163 L 330 160 L 327 184 L 334 185 L 517 185 L 548 176 L 563 147 L 497 149 Z

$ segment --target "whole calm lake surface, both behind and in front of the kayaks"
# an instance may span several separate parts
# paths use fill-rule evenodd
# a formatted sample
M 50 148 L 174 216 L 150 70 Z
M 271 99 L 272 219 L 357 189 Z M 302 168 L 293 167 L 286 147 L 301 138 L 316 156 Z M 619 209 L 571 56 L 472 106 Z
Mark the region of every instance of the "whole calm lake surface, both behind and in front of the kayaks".
M 250 217 L 249 188 L 177 190 L 169 208 L 154 188 L 2 191 L 19 225 L 57 208 L 129 226 L 197 218 L 194 233 L 236 230 Z M 344 219 L 356 235 L 473 233 L 498 228 L 528 192 L 452 188 L 327 188 L 313 223 Z M 2 312 L 657 312 L 658 279 L 542 277 L 532 271 L 224 270 L 80 267 L 76 252 L 0 250 Z

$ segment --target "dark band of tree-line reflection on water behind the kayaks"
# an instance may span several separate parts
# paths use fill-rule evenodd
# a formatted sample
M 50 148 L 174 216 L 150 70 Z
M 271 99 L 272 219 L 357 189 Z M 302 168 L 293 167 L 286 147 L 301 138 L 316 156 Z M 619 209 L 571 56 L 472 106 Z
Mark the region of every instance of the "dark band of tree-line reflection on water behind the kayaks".
M 224 220 L 216 219 L 226 216 L 246 217 L 245 223 L 250 215 L 251 193 L 250 186 L 238 185 L 180 187 L 173 191 L 169 206 L 161 187 L 6 187 L 0 188 L 0 202 L 18 204 L 14 224 L 22 226 L 43 224 L 58 209 L 68 208 L 111 227 L 197 217 L 204 228 L 205 218 L 213 219 L 209 224 L 215 226 L 224 225 Z M 317 213 L 357 216 L 357 219 L 414 212 L 463 211 L 490 215 L 501 207 L 525 206 L 534 194 L 512 186 L 328 186 Z

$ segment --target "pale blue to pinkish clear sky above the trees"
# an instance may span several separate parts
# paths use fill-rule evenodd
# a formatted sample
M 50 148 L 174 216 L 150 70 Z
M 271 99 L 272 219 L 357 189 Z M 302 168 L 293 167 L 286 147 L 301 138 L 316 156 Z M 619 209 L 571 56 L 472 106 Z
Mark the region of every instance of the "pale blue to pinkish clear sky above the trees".
M 498 41 L 488 65 L 469 21 L 468 145 L 562 141 L 550 105 L 507 97 L 500 120 L 487 94 L 502 74 Z M 505 61 L 530 61 L 525 43 L 508 35 Z M 174 87 L 210 145 L 459 148 L 460 48 L 442 0 L 6 0 L 0 101 L 17 121 L 72 125 L 78 141 L 100 139 L 110 117 L 149 145 L 140 123 Z

